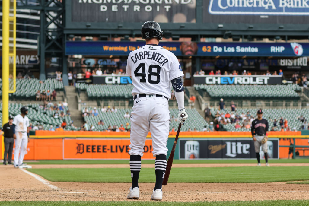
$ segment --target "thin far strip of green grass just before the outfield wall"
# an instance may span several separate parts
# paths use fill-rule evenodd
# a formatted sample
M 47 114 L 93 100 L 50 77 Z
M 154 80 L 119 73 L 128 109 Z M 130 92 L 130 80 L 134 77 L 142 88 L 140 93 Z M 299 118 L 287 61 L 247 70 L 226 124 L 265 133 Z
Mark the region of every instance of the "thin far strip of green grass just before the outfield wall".
M 129 164 L 129 160 L 39 160 L 36 162 L 25 161 L 28 164 Z M 155 160 L 142 160 L 142 164 L 154 164 Z M 256 159 L 219 159 L 219 160 L 177 160 L 173 164 L 235 164 L 257 163 Z M 265 160 L 261 160 L 265 163 Z M 269 163 L 309 163 L 308 159 L 270 159 Z

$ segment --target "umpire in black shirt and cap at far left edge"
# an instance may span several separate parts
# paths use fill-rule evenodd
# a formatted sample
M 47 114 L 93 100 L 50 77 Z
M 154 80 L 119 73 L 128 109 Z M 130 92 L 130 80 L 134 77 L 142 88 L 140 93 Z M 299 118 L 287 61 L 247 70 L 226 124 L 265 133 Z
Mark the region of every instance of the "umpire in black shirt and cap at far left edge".
M 4 124 L 1 131 L 4 132 L 4 158 L 3 164 L 12 164 L 12 153 L 15 136 L 15 124 L 13 124 L 13 116 L 9 116 L 9 122 Z

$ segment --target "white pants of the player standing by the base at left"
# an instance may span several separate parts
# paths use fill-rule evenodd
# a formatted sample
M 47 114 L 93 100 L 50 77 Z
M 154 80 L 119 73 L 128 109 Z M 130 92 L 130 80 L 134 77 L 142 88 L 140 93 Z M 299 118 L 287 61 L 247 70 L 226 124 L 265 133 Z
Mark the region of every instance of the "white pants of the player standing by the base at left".
M 27 132 L 15 132 L 14 165 L 21 165 L 23 158 L 27 154 L 28 136 Z

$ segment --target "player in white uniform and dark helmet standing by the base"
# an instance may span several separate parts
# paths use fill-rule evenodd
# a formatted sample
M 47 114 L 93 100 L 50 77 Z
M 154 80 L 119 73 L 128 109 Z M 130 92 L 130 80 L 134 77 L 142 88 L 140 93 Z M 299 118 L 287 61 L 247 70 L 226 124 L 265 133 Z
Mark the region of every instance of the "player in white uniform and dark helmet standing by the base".
M 28 107 L 20 108 L 20 115 L 16 115 L 13 119 L 13 124 L 15 124 L 15 151 L 14 151 L 14 167 L 18 168 L 23 164 L 23 158 L 27 153 L 27 145 L 30 141 L 29 139 L 29 118 L 26 116 L 28 114 Z

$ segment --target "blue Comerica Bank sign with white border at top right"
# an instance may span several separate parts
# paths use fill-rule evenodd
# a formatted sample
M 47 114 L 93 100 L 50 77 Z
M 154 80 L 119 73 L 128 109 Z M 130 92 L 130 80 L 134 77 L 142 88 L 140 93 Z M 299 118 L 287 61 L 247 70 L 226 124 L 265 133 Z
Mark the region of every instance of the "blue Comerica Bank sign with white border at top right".
M 210 0 L 210 14 L 309 15 L 309 0 Z

